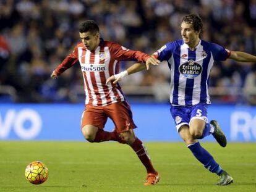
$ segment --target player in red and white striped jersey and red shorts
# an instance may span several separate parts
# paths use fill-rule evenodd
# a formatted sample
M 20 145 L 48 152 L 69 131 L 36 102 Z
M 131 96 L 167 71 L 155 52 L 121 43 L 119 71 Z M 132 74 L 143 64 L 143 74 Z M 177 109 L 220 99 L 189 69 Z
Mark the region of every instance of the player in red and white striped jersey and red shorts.
M 79 61 L 85 90 L 85 110 L 81 120 L 83 136 L 90 142 L 114 140 L 129 144 L 147 169 L 144 185 L 158 183 L 160 177 L 151 164 L 147 149 L 135 136 L 133 129 L 136 125 L 121 87 L 118 83 L 106 85 L 106 80 L 119 72 L 121 60 L 135 59 L 146 62 L 147 66 L 160 61 L 143 52 L 101 39 L 98 25 L 93 20 L 87 20 L 80 25 L 79 35 L 82 42 L 53 71 L 51 78 L 57 78 Z M 126 76 L 127 73 L 121 75 Z M 108 117 L 114 122 L 113 132 L 103 130 Z

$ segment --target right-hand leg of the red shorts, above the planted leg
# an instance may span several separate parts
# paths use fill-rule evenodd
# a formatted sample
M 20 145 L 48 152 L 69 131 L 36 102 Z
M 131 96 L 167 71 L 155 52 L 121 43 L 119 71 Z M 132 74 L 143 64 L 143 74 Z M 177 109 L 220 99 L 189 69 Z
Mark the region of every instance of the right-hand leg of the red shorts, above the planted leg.
M 108 117 L 113 120 L 117 133 L 128 131 L 136 128 L 132 119 L 132 111 L 129 104 L 124 102 L 115 102 L 105 107 Z

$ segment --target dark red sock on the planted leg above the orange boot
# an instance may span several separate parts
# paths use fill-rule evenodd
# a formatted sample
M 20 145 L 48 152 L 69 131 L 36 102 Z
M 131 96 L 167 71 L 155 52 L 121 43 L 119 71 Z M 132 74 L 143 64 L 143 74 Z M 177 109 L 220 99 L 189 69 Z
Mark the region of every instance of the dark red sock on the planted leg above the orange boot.
M 136 152 L 142 164 L 146 167 L 148 173 L 156 173 L 156 170 L 153 168 L 151 164 L 150 157 L 148 155 L 147 149 L 144 147 L 142 141 L 138 138 L 132 143 L 132 149 Z

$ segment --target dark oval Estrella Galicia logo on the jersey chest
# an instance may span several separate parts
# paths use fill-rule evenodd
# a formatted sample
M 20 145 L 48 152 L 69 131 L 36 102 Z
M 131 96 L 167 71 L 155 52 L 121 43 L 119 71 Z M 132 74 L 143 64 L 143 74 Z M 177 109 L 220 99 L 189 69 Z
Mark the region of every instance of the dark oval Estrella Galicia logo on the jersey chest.
M 195 78 L 202 73 L 203 67 L 190 59 L 179 65 L 179 72 L 187 78 Z

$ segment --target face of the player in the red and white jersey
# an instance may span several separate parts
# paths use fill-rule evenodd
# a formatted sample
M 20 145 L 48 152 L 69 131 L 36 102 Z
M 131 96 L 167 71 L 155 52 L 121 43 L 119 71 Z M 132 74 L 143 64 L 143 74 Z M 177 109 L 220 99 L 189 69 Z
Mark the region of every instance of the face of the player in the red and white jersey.
M 90 51 L 95 50 L 100 43 L 99 33 L 93 34 L 93 33 L 90 33 L 90 31 L 87 31 L 85 33 L 79 32 L 79 36 L 84 46 Z

